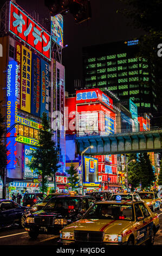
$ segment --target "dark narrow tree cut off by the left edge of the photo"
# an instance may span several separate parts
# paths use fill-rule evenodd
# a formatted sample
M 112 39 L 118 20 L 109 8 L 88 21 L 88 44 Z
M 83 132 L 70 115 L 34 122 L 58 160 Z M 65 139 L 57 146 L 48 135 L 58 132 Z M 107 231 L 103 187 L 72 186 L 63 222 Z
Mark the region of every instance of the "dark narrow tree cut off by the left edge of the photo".
M 5 136 L 5 129 L 4 129 L 4 122 L 5 119 L 0 112 L 0 176 L 3 181 L 3 198 L 5 198 L 5 167 L 7 166 L 7 155 L 5 145 L 3 143 Z

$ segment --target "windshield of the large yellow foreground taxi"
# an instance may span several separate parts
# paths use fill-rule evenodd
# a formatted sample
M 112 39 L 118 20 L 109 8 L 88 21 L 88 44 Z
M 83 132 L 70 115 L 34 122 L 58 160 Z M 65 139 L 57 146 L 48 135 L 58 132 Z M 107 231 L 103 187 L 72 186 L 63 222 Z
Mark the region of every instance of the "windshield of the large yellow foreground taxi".
M 86 219 L 133 221 L 132 205 L 94 204 L 83 216 Z

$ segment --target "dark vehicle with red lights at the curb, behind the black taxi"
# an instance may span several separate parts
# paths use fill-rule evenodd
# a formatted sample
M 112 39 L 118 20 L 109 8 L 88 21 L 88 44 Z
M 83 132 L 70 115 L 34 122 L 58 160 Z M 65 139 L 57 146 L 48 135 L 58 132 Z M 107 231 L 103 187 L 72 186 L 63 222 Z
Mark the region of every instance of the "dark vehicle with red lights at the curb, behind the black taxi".
M 45 193 L 25 193 L 23 197 L 23 206 L 33 206 L 34 204 L 40 203 L 47 197 Z

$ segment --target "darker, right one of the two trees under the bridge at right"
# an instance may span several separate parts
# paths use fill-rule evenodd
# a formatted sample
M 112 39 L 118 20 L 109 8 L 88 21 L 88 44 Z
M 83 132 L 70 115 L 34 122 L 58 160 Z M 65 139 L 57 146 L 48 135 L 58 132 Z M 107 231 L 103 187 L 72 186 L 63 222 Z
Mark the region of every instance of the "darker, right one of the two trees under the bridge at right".
M 155 180 L 155 176 L 153 173 L 153 168 L 151 164 L 151 160 L 147 153 L 140 153 L 138 157 L 139 161 L 139 177 L 141 182 L 141 188 L 148 188 L 153 185 L 153 181 Z

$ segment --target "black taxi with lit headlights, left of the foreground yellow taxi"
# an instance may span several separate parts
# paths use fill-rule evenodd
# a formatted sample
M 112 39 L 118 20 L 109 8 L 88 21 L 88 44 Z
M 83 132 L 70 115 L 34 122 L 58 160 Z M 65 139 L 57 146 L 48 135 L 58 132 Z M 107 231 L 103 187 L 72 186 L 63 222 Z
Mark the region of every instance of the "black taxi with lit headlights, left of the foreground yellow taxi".
M 79 218 L 94 204 L 89 196 L 57 196 L 49 200 L 41 211 L 27 216 L 24 227 L 29 236 L 59 234 L 60 230 Z

